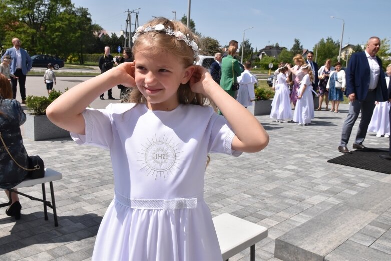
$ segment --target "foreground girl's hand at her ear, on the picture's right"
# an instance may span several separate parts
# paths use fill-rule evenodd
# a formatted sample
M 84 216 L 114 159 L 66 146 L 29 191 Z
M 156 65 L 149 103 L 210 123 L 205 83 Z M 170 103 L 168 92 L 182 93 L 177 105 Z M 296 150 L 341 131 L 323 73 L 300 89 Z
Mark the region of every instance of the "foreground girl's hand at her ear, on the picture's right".
M 191 91 L 207 96 L 207 89 L 212 88 L 213 84 L 217 85 L 208 70 L 200 65 L 194 65 L 194 72 L 189 80 Z

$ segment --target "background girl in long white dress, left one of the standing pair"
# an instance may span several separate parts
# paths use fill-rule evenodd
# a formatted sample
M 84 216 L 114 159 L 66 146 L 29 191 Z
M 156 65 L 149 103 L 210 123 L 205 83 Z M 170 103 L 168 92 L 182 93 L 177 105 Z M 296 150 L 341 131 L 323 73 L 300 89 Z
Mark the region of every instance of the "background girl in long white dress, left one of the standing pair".
M 286 123 L 287 119 L 292 119 L 292 109 L 289 100 L 289 86 L 286 82 L 286 73 L 288 67 L 284 66 L 280 68 L 280 72 L 277 75 L 276 91 L 273 101 L 271 103 L 270 118 L 277 119 L 277 122 Z

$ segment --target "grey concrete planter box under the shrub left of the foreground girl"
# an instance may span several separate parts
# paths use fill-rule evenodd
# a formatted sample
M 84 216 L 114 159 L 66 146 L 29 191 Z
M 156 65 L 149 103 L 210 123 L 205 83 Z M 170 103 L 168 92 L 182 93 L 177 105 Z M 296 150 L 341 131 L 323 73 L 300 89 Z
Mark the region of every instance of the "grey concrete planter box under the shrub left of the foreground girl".
M 31 140 L 50 140 L 57 138 L 69 138 L 69 131 L 54 125 L 46 115 L 26 114 L 25 136 Z

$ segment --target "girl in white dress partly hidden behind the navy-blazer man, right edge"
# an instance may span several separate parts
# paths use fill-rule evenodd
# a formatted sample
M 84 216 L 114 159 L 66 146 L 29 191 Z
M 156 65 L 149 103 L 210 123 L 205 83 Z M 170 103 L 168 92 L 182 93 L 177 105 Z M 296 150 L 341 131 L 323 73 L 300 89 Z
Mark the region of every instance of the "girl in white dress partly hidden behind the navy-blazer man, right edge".
M 389 77 L 391 76 L 391 64 L 387 66 L 385 72 L 385 82 L 387 87 L 389 87 Z M 372 118 L 368 126 L 368 131 L 376 133 L 376 137 L 381 137 L 384 135 L 385 138 L 389 137 L 389 107 L 391 106 L 389 102 L 375 102 L 375 107 L 373 110 Z

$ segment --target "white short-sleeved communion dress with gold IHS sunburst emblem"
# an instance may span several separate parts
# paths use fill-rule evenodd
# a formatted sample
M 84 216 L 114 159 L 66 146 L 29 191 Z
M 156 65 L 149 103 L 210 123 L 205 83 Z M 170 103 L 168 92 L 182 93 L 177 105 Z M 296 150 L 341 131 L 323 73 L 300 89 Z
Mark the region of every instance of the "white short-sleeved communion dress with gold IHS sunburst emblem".
M 93 260 L 222 260 L 203 198 L 208 153 L 232 151 L 234 133 L 211 107 L 110 104 L 83 112 L 78 144 L 110 150 L 115 196 Z

